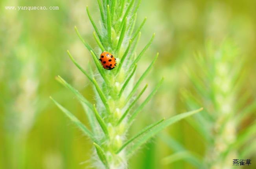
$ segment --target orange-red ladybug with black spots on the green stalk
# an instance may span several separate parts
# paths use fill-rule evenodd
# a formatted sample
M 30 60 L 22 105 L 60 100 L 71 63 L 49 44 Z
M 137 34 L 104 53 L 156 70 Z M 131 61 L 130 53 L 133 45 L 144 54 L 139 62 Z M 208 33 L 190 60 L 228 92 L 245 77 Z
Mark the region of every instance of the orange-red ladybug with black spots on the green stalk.
M 99 61 L 101 62 L 103 68 L 107 70 L 114 69 L 116 66 L 116 59 L 107 51 L 103 51 L 103 53 L 101 53 Z

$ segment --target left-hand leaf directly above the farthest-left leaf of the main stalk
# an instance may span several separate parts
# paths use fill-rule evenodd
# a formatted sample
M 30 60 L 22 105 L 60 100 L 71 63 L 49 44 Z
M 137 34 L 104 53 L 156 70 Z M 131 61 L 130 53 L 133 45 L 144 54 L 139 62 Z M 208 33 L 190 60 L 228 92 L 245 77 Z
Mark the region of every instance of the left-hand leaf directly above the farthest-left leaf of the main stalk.
M 79 99 L 79 101 L 85 103 L 91 110 L 93 110 L 92 104 L 87 99 L 85 99 L 85 97 L 83 97 L 83 95 L 81 95 L 75 88 L 68 84 L 61 76 L 57 76 L 56 80 L 59 81 L 59 83 L 61 83 L 66 88 L 70 89 Z

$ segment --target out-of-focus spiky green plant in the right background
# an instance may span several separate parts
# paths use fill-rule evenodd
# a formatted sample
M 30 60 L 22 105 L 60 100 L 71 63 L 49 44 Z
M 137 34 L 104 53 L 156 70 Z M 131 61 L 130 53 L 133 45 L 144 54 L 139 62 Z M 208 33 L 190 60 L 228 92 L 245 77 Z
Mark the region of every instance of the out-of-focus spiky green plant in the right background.
M 184 103 L 189 108 L 205 108 L 187 121 L 204 139 L 206 153 L 199 157 L 164 136 L 176 152 L 164 158 L 164 163 L 186 159 L 197 168 L 228 169 L 232 168 L 233 159 L 251 159 L 255 153 L 256 122 L 248 118 L 256 109 L 256 101 L 249 92 L 242 92 L 245 59 L 230 40 L 218 46 L 209 42 L 206 51 L 195 57 L 198 69 L 186 68 L 195 90 L 182 90 Z M 241 125 L 245 120 L 249 124 Z

